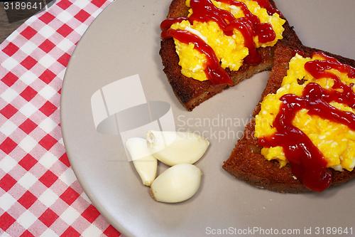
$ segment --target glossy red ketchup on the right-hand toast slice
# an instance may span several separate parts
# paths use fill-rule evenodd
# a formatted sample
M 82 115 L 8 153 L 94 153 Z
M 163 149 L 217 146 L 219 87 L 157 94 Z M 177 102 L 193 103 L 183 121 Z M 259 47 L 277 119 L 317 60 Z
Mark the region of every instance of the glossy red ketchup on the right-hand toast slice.
M 355 68 L 339 63 L 335 58 L 322 54 L 325 60 L 314 60 L 305 63 L 305 69 L 314 78 L 332 78 L 332 90 L 322 88 L 317 83 L 306 85 L 302 96 L 287 94 L 280 98 L 282 104 L 275 117 L 273 126 L 277 132 L 270 137 L 260 138 L 259 144 L 263 147 L 283 147 L 285 157 L 290 162 L 293 174 L 308 189 L 323 191 L 332 182 L 332 172 L 327 169 L 327 161 L 322 152 L 312 143 L 292 122 L 298 111 L 307 109 L 308 114 L 317 115 L 332 122 L 337 122 L 355 130 L 355 115 L 344 112 L 329 105 L 329 102 L 341 102 L 349 107 L 355 105 L 355 95 L 351 86 L 327 70 L 337 69 L 346 73 L 349 78 L 355 78 Z

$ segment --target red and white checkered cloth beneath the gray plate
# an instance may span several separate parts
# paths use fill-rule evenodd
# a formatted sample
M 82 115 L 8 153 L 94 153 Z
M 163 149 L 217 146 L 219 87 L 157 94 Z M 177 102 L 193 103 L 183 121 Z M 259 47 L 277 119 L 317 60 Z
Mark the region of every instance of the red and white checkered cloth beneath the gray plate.
M 89 24 L 112 0 L 59 0 L 0 45 L 0 235 L 119 236 L 65 154 L 60 89 Z

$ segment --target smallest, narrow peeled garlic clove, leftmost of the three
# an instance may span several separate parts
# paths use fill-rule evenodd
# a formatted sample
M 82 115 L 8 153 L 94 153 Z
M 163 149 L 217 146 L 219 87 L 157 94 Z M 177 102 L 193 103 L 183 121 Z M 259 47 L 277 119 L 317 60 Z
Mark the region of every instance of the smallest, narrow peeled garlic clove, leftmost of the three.
M 146 139 L 140 137 L 130 138 L 126 142 L 126 149 L 131 156 L 139 177 L 141 177 L 142 183 L 146 186 L 151 186 L 156 177 L 158 161 L 151 155 Z

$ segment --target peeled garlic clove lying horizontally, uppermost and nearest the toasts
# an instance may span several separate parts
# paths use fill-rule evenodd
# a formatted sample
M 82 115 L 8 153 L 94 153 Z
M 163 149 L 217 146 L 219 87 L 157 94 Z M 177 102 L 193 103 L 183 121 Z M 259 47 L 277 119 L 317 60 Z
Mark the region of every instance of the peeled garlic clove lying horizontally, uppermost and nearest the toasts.
M 149 131 L 147 141 L 153 156 L 168 166 L 194 164 L 209 146 L 207 139 L 192 132 Z

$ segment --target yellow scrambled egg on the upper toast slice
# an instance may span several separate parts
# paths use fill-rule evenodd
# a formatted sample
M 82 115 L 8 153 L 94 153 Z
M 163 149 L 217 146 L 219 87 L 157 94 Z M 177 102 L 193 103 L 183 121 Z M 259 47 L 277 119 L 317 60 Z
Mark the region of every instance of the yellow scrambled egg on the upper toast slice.
M 285 30 L 283 24 L 285 20 L 281 19 L 278 14 L 269 16 L 266 9 L 261 8 L 256 1 L 240 1 L 244 2 L 249 11 L 258 16 L 258 19 L 260 19 L 262 23 L 271 23 L 275 31 L 276 38 L 272 42 L 259 43 L 258 36 L 255 36 L 253 41 L 257 48 L 274 46 L 278 40 L 283 38 L 283 31 Z M 231 6 L 214 0 L 212 0 L 212 3 L 219 9 L 231 12 L 236 18 L 244 17 L 243 11 L 237 6 Z M 190 0 L 186 1 L 186 5 L 190 6 Z M 190 15 L 191 14 L 192 9 L 190 9 Z M 192 25 L 189 21 L 182 21 L 180 23 L 174 23 L 171 28 L 190 31 L 190 33 L 200 36 L 202 40 L 212 47 L 224 69 L 239 70 L 244 58 L 249 55 L 249 50 L 244 46 L 244 37 L 240 31 L 234 30 L 233 36 L 226 36 L 222 29 L 219 28 L 219 25 L 214 21 L 207 23 L 194 21 Z M 207 80 L 206 74 L 204 73 L 204 69 L 206 68 L 206 57 L 204 54 L 197 51 L 192 43 L 186 44 L 176 39 L 174 39 L 174 41 L 176 52 L 180 58 L 179 65 L 182 68 L 182 75 L 196 80 Z

